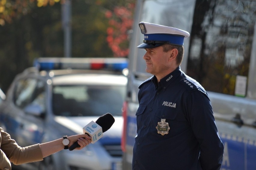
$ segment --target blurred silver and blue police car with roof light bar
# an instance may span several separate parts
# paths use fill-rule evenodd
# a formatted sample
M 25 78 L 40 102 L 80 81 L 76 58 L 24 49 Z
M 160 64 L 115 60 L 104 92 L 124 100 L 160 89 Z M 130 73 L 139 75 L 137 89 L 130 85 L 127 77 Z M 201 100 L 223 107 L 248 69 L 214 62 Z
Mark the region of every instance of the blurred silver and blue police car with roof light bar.
M 38 58 L 34 67 L 17 75 L 0 106 L 0 126 L 22 147 L 81 134 L 105 113 L 115 119 L 98 142 L 82 150 L 62 150 L 17 167 L 121 169 L 127 64 L 125 58 Z

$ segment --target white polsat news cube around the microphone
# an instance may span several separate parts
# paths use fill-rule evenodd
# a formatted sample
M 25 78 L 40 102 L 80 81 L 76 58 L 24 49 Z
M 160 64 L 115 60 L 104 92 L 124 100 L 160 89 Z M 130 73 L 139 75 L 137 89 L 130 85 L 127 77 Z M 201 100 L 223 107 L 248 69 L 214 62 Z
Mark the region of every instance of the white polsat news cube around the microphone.
M 102 127 L 93 121 L 83 128 L 83 132 L 91 136 L 91 143 L 97 142 L 103 136 Z

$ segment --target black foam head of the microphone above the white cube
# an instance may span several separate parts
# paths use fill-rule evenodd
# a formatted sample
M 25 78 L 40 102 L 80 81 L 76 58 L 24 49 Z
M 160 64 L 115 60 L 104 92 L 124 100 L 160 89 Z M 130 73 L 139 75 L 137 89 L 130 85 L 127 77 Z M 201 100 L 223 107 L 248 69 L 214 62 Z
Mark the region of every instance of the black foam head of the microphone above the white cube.
M 104 133 L 105 131 L 111 128 L 114 122 L 114 117 L 110 113 L 106 113 L 105 115 L 100 116 L 95 123 L 102 127 L 102 132 Z

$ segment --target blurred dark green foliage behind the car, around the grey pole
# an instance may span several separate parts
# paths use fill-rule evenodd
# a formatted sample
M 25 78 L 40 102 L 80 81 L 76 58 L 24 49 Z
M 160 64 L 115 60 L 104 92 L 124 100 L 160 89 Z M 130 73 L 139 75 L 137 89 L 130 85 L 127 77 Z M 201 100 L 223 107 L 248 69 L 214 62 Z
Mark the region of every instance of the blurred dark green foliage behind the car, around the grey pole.
M 63 3 L 65 0 L 0 0 L 0 88 L 5 93 L 15 75 L 32 66 L 34 58 L 64 56 Z M 117 44 L 126 53 L 115 53 L 107 41 L 110 36 L 107 29 L 111 27 L 117 33 L 112 35 L 113 39 L 123 37 L 123 32 L 127 34 L 131 26 L 120 31 L 122 28 L 114 27 L 110 20 L 119 25 L 127 22 L 122 19 L 126 16 L 115 15 L 120 7 L 131 11 L 131 19 L 135 0 L 72 0 L 71 3 L 72 57 L 127 56 L 127 36 L 122 39 L 124 43 Z M 109 12 L 111 17 L 106 16 Z

